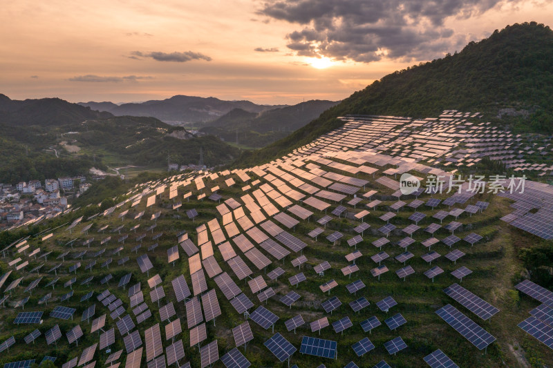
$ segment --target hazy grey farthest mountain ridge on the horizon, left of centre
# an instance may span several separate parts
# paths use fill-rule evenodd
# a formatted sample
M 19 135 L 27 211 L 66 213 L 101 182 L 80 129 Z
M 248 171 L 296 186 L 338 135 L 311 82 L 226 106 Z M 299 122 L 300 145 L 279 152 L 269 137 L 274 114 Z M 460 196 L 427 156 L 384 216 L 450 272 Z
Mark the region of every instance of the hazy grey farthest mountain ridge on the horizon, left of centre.
M 251 101 L 224 101 L 215 97 L 194 97 L 176 95 L 168 99 L 150 100 L 141 103 L 113 104 L 113 102 L 79 102 L 79 105 L 93 110 L 106 111 L 115 116 L 149 116 L 162 122 L 201 123 L 210 122 L 240 108 L 249 113 L 261 113 L 286 105 L 258 105 Z

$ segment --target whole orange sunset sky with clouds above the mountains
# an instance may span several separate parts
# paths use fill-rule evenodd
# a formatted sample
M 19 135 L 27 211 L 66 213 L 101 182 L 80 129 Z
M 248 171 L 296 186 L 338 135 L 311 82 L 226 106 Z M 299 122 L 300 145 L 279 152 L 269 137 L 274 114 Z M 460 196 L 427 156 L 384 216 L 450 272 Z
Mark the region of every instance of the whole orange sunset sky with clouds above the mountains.
M 0 93 L 337 101 L 525 21 L 553 26 L 553 1 L 5 1 Z

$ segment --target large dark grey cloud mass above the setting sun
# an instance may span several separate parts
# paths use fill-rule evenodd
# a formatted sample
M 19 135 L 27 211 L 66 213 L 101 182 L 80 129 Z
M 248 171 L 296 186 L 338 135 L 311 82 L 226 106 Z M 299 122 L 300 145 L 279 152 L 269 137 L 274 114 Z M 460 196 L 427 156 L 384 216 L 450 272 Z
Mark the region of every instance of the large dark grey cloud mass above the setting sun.
M 286 35 L 295 55 L 368 63 L 389 57 L 433 59 L 460 50 L 468 39 L 444 26 L 506 2 L 522 0 L 274 0 L 258 14 L 297 23 Z

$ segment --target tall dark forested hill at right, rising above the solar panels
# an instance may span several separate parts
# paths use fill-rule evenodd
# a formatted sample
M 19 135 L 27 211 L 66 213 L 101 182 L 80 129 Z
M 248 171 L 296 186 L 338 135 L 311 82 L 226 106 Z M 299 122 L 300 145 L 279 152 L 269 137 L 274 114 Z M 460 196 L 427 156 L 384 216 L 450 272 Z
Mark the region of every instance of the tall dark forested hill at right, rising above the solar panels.
M 303 128 L 235 164 L 280 157 L 343 124 L 346 114 L 437 116 L 479 111 L 515 132 L 553 133 L 553 32 L 535 22 L 494 31 L 455 55 L 393 72 L 326 110 Z

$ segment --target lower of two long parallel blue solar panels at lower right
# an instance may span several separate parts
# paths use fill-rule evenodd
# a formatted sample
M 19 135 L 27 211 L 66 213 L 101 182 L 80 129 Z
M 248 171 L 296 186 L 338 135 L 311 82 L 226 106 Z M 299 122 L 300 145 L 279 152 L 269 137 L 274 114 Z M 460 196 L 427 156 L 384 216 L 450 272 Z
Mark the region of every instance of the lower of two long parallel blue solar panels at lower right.
M 494 342 L 496 338 L 491 336 L 485 329 L 476 325 L 471 319 L 458 311 L 451 304 L 438 309 L 436 311 L 438 316 L 442 318 L 448 325 L 456 329 L 464 338 L 469 340 L 479 350 L 487 347 L 491 342 Z

